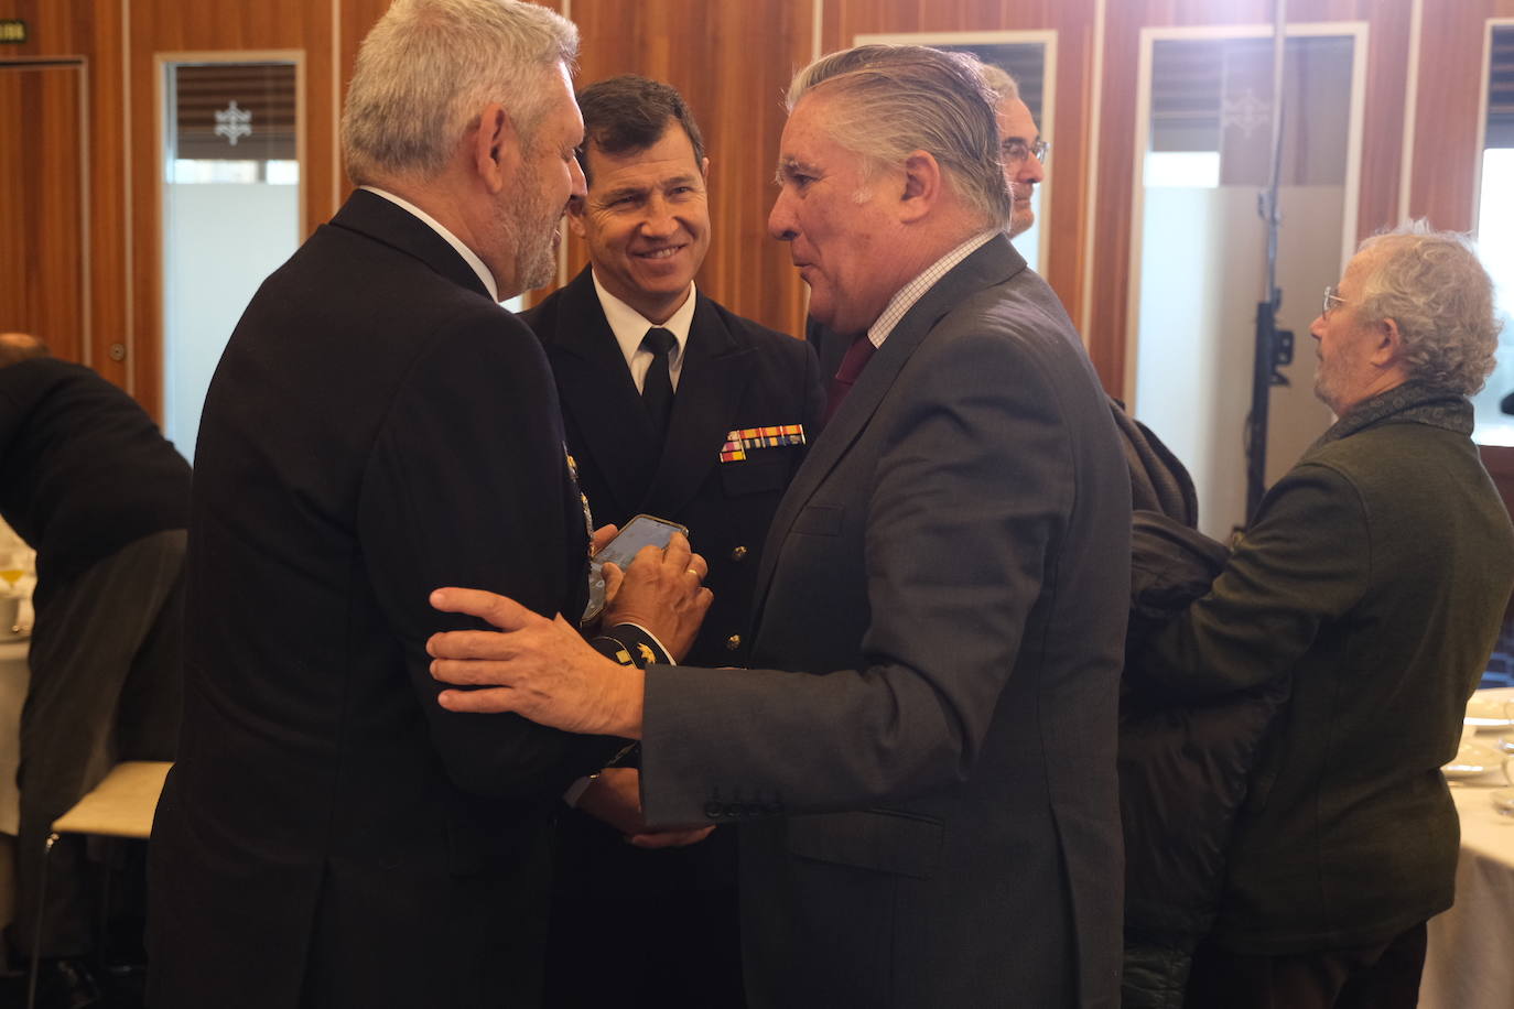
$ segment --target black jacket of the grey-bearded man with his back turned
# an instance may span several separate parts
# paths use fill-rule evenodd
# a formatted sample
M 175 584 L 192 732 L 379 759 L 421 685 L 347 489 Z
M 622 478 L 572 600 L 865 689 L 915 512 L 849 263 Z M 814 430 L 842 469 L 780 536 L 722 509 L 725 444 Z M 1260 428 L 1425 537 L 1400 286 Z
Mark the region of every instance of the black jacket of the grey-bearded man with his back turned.
M 545 812 L 613 744 L 444 711 L 425 640 L 468 626 L 436 585 L 581 611 L 540 346 L 359 191 L 253 298 L 197 455 L 151 1004 L 534 1004 Z

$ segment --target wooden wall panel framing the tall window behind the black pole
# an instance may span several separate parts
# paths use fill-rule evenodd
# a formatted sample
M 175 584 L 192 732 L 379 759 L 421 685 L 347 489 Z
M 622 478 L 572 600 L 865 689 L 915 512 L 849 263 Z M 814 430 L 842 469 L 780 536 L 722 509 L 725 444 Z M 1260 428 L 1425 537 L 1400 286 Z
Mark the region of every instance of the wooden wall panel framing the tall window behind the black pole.
M 1363 110 L 1361 236 L 1396 216 L 1408 65 L 1411 0 L 1293 0 L 1288 23 L 1366 21 L 1367 82 Z M 1107 5 L 1104 107 L 1095 194 L 1093 284 L 1089 352 L 1105 387 L 1122 395 L 1126 377 L 1136 101 L 1143 27 L 1269 24 L 1270 0 L 1129 0 Z

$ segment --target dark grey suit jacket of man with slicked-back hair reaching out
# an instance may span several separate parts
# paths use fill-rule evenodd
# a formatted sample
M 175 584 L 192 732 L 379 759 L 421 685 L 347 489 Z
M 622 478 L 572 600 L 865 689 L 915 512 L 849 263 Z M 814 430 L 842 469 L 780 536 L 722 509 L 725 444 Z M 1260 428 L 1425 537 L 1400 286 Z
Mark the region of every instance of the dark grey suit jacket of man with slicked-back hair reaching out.
M 995 238 L 910 309 L 790 484 L 759 573 L 766 669 L 648 672 L 648 818 L 751 821 L 754 1006 L 1116 1004 L 1128 569 L 1104 393 Z

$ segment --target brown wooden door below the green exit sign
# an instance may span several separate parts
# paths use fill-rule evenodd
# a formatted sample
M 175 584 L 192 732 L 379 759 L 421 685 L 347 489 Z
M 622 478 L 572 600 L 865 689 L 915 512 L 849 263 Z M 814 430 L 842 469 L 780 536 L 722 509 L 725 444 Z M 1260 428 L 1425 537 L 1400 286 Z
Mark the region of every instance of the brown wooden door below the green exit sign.
M 32 333 L 83 360 L 88 315 L 79 159 L 83 62 L 0 65 L 0 333 Z

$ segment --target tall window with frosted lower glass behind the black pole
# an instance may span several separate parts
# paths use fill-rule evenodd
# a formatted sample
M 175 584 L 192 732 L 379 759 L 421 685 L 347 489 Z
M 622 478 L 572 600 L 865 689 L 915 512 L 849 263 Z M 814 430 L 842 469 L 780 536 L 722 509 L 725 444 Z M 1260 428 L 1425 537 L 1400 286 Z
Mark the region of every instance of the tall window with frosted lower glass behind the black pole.
M 1354 39 L 1291 38 L 1284 64 L 1278 325 L 1296 355 L 1272 390 L 1267 483 L 1331 422 L 1313 395 L 1310 322 L 1341 266 Z M 1134 411 L 1184 461 L 1199 528 L 1246 520 L 1246 416 L 1266 278 L 1270 39 L 1152 44 L 1151 132 L 1140 153 L 1140 287 Z

